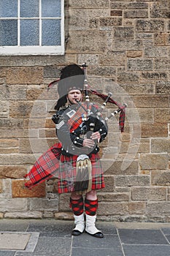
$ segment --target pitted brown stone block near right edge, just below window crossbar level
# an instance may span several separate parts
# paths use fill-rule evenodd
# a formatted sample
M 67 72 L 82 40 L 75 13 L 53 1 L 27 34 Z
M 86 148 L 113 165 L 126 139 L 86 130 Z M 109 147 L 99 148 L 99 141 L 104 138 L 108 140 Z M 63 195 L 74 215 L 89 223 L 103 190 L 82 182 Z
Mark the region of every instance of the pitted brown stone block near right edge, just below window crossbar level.
M 165 22 L 162 19 L 136 20 L 136 31 L 159 32 L 164 31 Z

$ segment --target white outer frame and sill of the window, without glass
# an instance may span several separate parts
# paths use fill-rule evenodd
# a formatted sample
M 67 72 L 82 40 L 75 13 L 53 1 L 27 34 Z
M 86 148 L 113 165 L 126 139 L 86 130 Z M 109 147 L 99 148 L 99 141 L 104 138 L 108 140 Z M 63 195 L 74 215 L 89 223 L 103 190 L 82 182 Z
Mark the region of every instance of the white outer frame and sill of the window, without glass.
M 9 18 L 1 18 L 3 20 Z M 12 18 L 10 18 L 12 19 Z M 19 20 L 20 18 L 18 18 Z M 56 18 L 57 19 L 57 18 Z M 0 46 L 0 56 L 15 55 L 63 55 L 64 54 L 64 0 L 61 0 L 61 45 Z M 19 36 L 19 35 L 18 35 Z

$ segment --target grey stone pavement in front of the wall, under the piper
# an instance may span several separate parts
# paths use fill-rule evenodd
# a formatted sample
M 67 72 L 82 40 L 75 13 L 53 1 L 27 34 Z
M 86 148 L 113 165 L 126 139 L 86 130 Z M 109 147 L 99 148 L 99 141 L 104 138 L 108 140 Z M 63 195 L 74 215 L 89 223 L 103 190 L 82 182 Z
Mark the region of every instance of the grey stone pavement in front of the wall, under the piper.
M 104 238 L 71 236 L 72 221 L 1 219 L 0 256 L 169 256 L 169 223 L 96 222 Z M 15 241 L 15 242 L 14 242 Z

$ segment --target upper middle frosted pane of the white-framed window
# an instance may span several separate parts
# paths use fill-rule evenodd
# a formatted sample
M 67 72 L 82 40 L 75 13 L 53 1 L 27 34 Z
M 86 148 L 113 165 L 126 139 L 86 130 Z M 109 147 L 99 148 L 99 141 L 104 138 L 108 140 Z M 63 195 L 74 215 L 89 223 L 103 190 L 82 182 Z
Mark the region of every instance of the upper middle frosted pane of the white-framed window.
M 20 17 L 39 17 L 39 0 L 20 0 Z

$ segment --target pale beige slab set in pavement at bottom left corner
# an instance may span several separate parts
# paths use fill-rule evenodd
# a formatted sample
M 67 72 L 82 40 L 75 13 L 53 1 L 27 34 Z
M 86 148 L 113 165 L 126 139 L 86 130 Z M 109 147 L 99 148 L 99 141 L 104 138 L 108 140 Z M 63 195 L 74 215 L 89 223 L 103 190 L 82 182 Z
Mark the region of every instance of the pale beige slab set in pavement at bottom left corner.
M 26 249 L 30 234 L 0 233 L 0 249 Z

